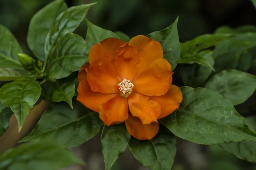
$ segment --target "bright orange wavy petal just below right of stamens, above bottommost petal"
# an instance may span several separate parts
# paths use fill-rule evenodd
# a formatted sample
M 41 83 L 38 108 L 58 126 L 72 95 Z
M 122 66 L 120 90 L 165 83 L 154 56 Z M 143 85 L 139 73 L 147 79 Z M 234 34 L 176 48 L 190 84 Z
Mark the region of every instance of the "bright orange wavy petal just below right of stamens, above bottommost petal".
M 149 100 L 148 96 L 138 93 L 132 93 L 128 96 L 128 104 L 131 114 L 140 118 L 143 124 L 157 122 L 157 118 L 161 113 L 161 107 L 157 102 Z

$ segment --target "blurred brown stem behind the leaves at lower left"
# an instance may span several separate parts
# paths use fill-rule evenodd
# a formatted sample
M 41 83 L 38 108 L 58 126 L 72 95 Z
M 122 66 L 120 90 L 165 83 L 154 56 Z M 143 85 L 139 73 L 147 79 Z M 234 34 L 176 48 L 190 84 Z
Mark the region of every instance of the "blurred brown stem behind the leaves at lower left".
M 42 100 L 38 105 L 29 112 L 25 122 L 23 123 L 20 133 L 18 133 L 18 124 L 14 115 L 10 119 L 10 126 L 0 137 L 0 154 L 6 150 L 15 147 L 18 141 L 32 131 L 37 124 L 41 115 L 49 108 L 50 102 Z

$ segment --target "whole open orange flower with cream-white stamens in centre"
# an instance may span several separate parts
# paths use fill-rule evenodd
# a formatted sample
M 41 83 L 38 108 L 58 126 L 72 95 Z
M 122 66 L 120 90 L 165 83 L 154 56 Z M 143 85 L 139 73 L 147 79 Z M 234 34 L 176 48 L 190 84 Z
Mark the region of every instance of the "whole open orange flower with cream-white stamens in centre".
M 137 139 L 156 136 L 157 119 L 182 101 L 160 43 L 148 37 L 139 35 L 129 43 L 107 38 L 92 46 L 88 59 L 78 74 L 77 100 L 99 112 L 108 126 L 125 122 Z

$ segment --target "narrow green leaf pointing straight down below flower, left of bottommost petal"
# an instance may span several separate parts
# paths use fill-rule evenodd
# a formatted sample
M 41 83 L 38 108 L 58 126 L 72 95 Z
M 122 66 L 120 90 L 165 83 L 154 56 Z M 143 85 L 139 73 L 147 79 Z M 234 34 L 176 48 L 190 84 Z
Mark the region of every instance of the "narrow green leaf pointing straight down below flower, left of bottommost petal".
M 125 151 L 130 139 L 131 136 L 124 124 L 103 127 L 101 143 L 105 170 L 111 170 L 119 155 Z

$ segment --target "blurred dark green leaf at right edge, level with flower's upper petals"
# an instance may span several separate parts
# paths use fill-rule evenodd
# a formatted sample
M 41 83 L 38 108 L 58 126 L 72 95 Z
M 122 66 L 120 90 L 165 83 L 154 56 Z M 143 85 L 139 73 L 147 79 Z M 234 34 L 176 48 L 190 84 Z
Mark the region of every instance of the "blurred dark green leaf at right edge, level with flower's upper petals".
M 216 71 L 238 69 L 247 71 L 256 55 L 256 33 L 239 34 L 224 40 L 213 51 Z

